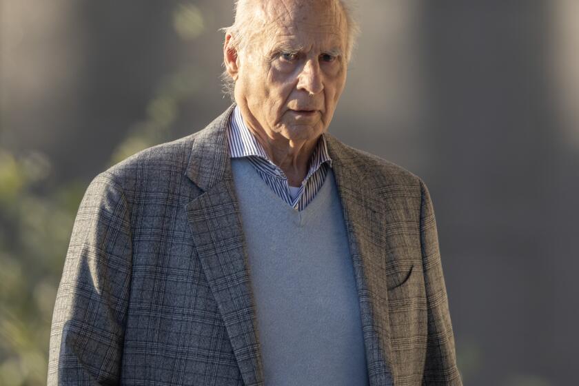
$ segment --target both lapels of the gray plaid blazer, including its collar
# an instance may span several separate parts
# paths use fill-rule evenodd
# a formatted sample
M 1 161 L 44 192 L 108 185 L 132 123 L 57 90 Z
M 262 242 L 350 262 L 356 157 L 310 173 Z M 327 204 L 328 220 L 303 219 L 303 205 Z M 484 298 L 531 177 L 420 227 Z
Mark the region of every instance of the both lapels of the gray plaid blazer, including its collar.
M 244 383 L 263 385 L 256 309 L 227 147 L 234 107 L 196 134 L 186 174 L 203 192 L 185 210 Z M 326 134 L 326 140 L 356 275 L 370 385 L 391 385 L 384 205 L 367 183 L 360 153 L 332 135 Z

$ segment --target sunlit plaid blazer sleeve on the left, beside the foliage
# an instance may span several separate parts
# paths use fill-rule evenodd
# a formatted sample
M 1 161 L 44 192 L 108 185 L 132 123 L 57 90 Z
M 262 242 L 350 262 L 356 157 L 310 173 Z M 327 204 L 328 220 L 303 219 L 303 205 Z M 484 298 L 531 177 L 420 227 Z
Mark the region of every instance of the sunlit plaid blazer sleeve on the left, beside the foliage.
M 48 385 L 117 385 L 132 241 L 123 191 L 107 172 L 85 192 L 52 316 Z

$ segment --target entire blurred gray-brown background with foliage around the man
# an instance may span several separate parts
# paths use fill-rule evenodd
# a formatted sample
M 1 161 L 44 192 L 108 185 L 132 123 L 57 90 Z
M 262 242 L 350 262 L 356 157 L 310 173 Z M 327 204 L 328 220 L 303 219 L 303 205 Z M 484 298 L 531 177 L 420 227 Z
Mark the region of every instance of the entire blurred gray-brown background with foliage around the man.
M 2 0 L 0 384 L 43 385 L 90 180 L 203 128 L 232 1 Z M 330 132 L 421 176 L 465 385 L 576 384 L 579 1 L 360 0 Z

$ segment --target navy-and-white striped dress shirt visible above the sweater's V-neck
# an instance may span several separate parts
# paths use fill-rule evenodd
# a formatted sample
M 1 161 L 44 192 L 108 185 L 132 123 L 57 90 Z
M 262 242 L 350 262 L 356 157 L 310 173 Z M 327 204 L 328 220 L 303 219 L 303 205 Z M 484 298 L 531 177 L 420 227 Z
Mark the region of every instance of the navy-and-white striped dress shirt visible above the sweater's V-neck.
M 302 181 L 297 194 L 292 197 L 287 176 L 269 159 L 263 146 L 247 128 L 238 106 L 231 114 L 227 139 L 229 139 L 230 157 L 247 157 L 267 186 L 296 210 L 303 210 L 314 199 L 324 183 L 328 168 L 332 167 L 332 159 L 327 153 L 325 136 L 321 134 L 312 153 L 312 158 L 309 159 L 307 176 Z

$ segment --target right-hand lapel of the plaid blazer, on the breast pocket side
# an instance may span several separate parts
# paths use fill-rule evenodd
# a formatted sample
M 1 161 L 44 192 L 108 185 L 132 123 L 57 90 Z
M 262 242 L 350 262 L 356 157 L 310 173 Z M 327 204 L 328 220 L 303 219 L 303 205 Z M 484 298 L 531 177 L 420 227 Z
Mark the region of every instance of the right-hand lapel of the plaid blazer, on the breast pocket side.
M 354 264 L 370 385 L 393 385 L 383 201 L 360 179 L 360 158 L 325 134 Z

